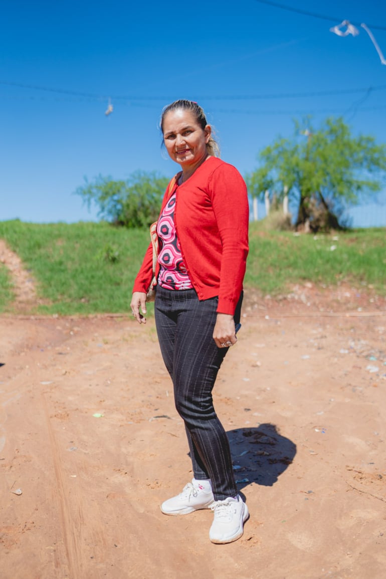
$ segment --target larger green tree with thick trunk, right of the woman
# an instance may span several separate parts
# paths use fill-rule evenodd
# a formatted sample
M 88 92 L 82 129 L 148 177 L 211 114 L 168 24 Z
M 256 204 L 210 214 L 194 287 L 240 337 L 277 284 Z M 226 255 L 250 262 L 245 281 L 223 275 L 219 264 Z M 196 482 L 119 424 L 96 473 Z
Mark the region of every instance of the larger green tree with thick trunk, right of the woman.
M 354 137 L 342 118 L 326 119 L 320 129 L 295 122 L 291 139 L 278 138 L 263 149 L 259 167 L 247 175 L 252 197 L 297 202 L 296 226 L 339 229 L 344 211 L 378 192 L 385 179 L 386 145 L 373 137 Z

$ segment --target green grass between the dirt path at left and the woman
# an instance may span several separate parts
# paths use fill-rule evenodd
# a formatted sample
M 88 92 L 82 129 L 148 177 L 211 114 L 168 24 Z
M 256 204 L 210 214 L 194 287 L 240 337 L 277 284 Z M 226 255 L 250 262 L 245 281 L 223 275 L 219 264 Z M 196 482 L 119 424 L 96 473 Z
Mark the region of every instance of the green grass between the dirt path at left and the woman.
M 38 281 L 43 314 L 130 311 L 149 233 L 108 223 L 0 222 L 0 237 Z

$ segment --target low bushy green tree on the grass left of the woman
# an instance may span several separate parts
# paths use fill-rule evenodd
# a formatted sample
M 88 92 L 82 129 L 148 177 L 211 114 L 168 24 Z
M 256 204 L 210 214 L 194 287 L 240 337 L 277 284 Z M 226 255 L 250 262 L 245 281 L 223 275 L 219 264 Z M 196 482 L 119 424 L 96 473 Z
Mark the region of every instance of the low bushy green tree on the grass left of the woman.
M 135 171 L 126 181 L 113 181 L 99 175 L 93 182 L 78 187 L 75 194 L 83 197 L 90 208 L 99 207 L 98 215 L 115 225 L 146 227 L 156 221 L 168 178 L 155 171 Z

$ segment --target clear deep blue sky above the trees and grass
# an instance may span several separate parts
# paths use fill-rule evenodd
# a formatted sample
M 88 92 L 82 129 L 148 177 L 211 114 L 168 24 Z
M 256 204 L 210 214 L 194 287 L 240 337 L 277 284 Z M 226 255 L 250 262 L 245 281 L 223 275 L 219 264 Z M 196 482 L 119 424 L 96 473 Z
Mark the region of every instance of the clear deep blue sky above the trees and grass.
M 171 177 L 157 124 L 177 98 L 204 107 L 242 174 L 308 114 L 316 125 L 343 115 L 354 134 L 386 142 L 386 65 L 360 27 L 386 57 L 384 2 L 279 3 L 299 12 L 258 0 L 2 1 L 0 220 L 95 219 L 73 194 L 84 177 Z M 344 19 L 358 36 L 329 31 Z M 373 225 L 386 225 L 385 191 L 380 200 Z M 369 225 L 371 207 L 354 225 Z

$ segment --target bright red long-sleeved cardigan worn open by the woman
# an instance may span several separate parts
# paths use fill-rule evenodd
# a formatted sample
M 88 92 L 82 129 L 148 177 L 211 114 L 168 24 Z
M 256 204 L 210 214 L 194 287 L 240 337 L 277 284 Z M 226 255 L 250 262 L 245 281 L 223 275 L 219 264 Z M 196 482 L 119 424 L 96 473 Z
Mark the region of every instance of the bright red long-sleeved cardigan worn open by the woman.
M 249 204 L 244 179 L 232 165 L 209 157 L 175 188 L 175 229 L 198 299 L 219 296 L 217 312 L 233 316 L 248 255 Z M 161 212 L 167 199 L 168 189 Z M 150 243 L 133 291 L 148 291 L 152 255 Z M 156 276 L 159 267 L 157 263 Z

